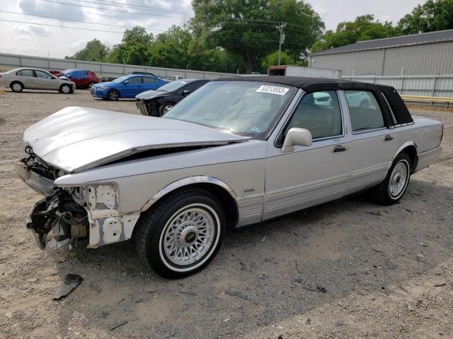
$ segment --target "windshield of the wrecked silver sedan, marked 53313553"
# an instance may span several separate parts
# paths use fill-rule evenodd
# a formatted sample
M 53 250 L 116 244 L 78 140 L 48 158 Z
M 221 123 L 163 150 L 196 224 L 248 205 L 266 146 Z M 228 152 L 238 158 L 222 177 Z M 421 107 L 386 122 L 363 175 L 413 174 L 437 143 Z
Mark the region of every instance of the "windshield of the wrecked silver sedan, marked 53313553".
M 164 118 L 265 138 L 294 88 L 255 81 L 212 81 L 173 107 Z

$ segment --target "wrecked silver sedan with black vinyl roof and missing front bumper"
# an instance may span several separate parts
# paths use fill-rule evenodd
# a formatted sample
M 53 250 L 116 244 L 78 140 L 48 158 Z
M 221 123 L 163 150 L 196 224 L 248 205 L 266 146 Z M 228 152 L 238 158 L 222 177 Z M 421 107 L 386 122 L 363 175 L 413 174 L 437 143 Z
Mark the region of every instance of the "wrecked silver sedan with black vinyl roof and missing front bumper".
M 350 90 L 372 105 L 348 102 Z M 16 170 L 45 195 L 27 220 L 42 249 L 133 238 L 157 273 L 178 278 L 206 266 L 231 228 L 365 189 L 396 203 L 440 156 L 442 133 L 388 86 L 222 78 L 161 118 L 62 109 L 25 131 Z

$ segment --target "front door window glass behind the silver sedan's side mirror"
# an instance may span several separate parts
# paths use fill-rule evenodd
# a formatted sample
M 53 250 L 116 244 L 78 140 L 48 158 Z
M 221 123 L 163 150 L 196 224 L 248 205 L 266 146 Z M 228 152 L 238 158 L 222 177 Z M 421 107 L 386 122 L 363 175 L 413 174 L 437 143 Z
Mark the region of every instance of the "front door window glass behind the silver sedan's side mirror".
M 343 133 L 341 110 L 335 91 L 308 93 L 299 102 L 287 128 L 308 129 L 313 140 L 331 138 Z

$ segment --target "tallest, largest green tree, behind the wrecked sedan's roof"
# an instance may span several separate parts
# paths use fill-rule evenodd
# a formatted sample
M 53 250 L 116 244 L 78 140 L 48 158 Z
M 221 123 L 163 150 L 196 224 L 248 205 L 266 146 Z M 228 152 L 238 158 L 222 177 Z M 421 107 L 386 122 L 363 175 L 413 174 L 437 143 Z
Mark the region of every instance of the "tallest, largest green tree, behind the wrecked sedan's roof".
M 222 47 L 242 59 L 246 72 L 260 67 L 263 57 L 278 47 L 278 23 L 287 23 L 282 49 L 299 59 L 321 35 L 319 15 L 297 0 L 193 0 L 191 25 L 208 47 Z

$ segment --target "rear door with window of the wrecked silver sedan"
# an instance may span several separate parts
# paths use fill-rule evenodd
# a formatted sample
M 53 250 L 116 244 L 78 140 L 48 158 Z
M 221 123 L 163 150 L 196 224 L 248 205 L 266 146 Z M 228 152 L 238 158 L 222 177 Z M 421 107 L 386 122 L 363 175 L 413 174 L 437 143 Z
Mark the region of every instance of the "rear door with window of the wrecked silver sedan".
M 392 129 L 384 126 L 374 93 L 345 90 L 350 114 L 350 193 L 375 186 L 386 177 L 398 148 Z

